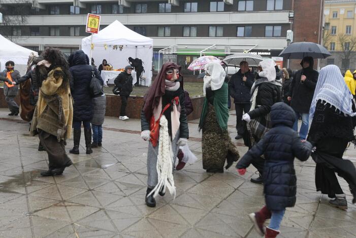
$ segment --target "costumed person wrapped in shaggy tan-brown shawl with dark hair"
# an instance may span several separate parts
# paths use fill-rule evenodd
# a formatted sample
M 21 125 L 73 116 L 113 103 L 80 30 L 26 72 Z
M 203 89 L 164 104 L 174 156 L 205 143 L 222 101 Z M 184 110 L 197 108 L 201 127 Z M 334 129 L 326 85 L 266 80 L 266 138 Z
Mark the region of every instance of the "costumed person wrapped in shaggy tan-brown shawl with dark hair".
M 48 171 L 42 176 L 60 175 L 72 161 L 64 150 L 64 142 L 72 135 L 73 101 L 70 90 L 69 66 L 64 55 L 48 48 L 44 60 L 36 67 L 40 94 L 30 134 L 39 134 L 48 154 Z

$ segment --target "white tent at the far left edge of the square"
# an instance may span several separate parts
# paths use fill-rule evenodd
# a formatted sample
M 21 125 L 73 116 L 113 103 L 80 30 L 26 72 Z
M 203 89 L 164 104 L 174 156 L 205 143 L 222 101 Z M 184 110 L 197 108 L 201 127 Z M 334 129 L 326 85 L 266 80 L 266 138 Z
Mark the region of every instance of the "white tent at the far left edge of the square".
M 34 53 L 38 56 L 36 51 L 27 49 L 25 47 L 16 45 L 10 40 L 0 35 L 0 69 L 5 69 L 5 63 L 13 61 L 15 63 L 15 69 L 24 74 L 26 71 L 28 56 Z

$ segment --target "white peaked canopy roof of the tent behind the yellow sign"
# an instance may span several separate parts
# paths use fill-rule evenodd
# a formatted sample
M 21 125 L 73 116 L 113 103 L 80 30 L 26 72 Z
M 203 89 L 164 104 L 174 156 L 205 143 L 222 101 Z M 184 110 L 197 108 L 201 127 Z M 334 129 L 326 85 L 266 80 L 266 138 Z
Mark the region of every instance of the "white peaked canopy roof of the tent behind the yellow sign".
M 90 45 L 90 37 L 82 40 L 82 46 Z M 142 36 L 115 20 L 98 34 L 93 34 L 93 43 L 94 47 L 95 45 L 153 45 L 153 39 Z

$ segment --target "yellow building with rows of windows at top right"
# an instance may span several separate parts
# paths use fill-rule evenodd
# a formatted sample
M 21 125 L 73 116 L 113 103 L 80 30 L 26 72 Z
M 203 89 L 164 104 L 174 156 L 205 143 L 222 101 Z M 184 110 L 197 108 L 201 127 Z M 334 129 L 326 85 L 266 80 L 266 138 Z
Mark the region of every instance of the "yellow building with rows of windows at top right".
M 322 66 L 335 64 L 342 71 L 356 69 L 356 0 L 326 1 L 323 10 L 323 45 L 332 56 Z

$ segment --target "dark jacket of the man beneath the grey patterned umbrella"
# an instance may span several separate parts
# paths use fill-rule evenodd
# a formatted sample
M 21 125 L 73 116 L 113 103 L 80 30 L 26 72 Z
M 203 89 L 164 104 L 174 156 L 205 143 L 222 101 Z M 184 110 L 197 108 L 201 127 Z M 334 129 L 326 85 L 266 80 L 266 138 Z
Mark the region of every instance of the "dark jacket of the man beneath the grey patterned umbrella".
M 242 78 L 246 76 L 247 80 L 244 82 Z M 239 70 L 236 74 L 231 76 L 229 82 L 229 93 L 234 98 L 234 103 L 249 104 L 251 99 L 251 87 L 254 82 L 254 75 L 251 71 L 243 74 Z

